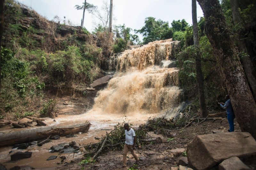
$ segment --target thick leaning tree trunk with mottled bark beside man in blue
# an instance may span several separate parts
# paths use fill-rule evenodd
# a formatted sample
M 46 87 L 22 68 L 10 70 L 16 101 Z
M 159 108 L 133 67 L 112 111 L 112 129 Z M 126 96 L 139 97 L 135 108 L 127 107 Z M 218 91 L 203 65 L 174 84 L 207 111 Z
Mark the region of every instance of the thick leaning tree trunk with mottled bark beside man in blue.
M 218 0 L 197 0 L 205 18 L 205 33 L 216 54 L 220 76 L 225 81 L 237 122 L 242 131 L 256 138 L 256 104 L 242 64 L 230 38 Z

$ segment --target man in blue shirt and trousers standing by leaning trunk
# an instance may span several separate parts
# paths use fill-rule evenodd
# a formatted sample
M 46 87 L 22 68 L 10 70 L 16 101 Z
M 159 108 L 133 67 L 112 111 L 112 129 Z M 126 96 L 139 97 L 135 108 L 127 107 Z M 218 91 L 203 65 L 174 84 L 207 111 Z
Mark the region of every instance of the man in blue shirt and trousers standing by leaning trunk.
M 228 123 L 229 123 L 229 132 L 234 132 L 234 118 L 235 118 L 235 114 L 233 111 L 233 107 L 231 105 L 231 101 L 229 98 L 229 95 L 226 95 L 225 97 L 226 103 L 219 103 L 220 107 L 226 109 L 227 115 L 228 115 Z

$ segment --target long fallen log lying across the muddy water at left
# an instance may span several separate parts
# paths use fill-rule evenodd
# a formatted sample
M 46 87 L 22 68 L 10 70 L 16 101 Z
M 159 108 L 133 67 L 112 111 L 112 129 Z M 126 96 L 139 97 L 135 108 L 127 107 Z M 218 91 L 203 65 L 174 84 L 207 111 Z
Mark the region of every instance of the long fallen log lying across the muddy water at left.
M 20 130 L 0 135 L 0 147 L 25 143 L 31 140 L 42 139 L 50 136 L 65 136 L 68 134 L 75 134 L 79 132 L 87 132 L 90 128 L 90 123 L 85 122 L 76 125 L 68 126 L 44 126 L 38 128 L 31 128 L 26 130 Z

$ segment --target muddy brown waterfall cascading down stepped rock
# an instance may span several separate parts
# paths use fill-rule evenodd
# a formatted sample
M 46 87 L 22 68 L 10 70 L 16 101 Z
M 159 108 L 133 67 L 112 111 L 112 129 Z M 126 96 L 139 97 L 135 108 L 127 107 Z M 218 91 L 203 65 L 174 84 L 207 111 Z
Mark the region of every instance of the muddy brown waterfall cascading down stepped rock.
M 183 99 L 179 70 L 168 68 L 177 45 L 171 39 L 155 41 L 111 57 L 108 68 L 116 73 L 93 108 L 104 114 L 156 114 L 177 107 Z

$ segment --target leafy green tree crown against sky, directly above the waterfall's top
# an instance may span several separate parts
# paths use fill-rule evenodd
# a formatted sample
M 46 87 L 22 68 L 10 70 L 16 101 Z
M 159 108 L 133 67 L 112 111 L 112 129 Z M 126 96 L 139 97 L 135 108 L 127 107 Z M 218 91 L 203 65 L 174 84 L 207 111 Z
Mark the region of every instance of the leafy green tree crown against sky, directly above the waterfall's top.
M 136 33 L 143 35 L 143 44 L 147 44 L 156 40 L 165 40 L 172 37 L 173 30 L 169 27 L 169 23 L 156 20 L 154 17 L 148 17 L 145 19 L 145 26 L 139 30 L 135 30 Z

